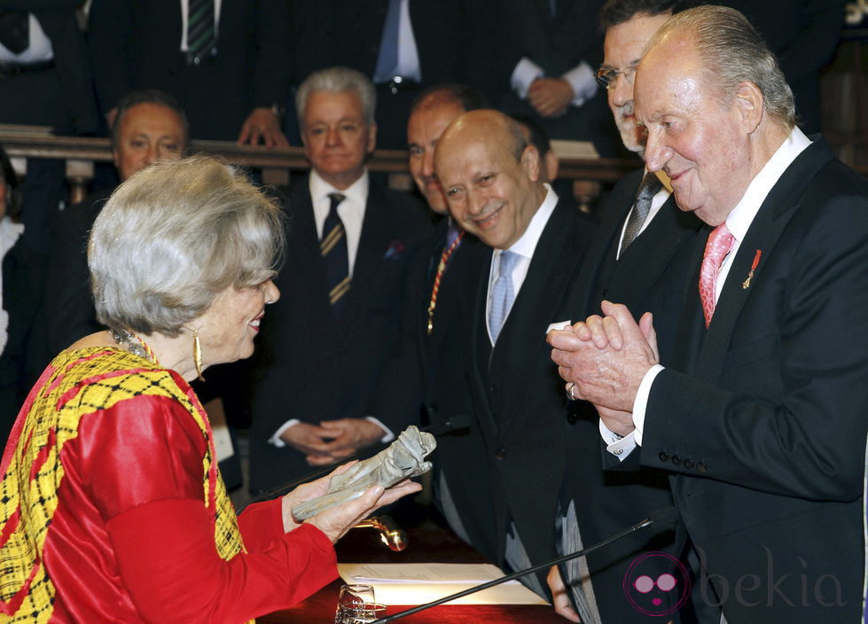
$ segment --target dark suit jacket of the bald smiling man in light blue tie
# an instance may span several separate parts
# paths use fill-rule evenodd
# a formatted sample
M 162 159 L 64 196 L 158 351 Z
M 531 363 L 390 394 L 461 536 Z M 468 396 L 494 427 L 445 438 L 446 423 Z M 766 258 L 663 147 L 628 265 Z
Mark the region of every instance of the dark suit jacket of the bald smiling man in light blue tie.
M 497 551 L 489 558 L 498 564 L 504 562 L 510 519 L 531 563 L 554 556 L 553 519 L 567 467 L 567 400 L 545 343 L 545 330 L 568 317 L 569 289 L 593 230 L 583 214 L 559 202 L 493 350 L 485 317 L 490 256 L 467 308 L 472 312 L 470 386 L 493 488 L 493 499 L 477 504 L 489 506 L 494 513 L 491 531 Z

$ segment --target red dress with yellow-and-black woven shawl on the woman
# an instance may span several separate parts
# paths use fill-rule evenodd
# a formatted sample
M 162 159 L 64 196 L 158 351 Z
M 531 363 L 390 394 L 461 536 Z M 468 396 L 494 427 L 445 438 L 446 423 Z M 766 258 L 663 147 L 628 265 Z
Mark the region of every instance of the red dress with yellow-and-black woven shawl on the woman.
M 0 474 L 0 621 L 242 622 L 337 575 L 279 500 L 236 523 L 192 389 L 125 351 L 55 358 Z

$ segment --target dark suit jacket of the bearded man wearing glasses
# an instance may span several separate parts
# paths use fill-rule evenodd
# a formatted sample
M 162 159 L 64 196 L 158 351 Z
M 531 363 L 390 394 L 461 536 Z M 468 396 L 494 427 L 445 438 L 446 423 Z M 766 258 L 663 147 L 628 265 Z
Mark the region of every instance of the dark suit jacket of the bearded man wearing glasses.
M 677 320 L 690 272 L 692 242 L 701 222 L 693 214 L 679 210 L 670 196 L 648 227 L 616 260 L 623 224 L 644 174 L 640 169 L 625 175 L 609 196 L 573 291 L 570 319 L 575 323 L 600 314 L 600 301 L 604 299 L 625 304 L 637 318 L 650 311 L 661 360 L 667 363 L 675 347 Z M 646 518 L 651 511 L 672 504 L 664 472 L 637 470 L 637 465 L 624 470 L 620 464 L 617 471 L 602 470 L 604 461 L 614 456 L 610 456 L 600 442 L 599 417 L 593 406 L 573 402 L 567 423 L 569 462 L 561 494 L 565 503 L 575 500 L 583 543 L 600 542 Z M 621 584 L 635 558 L 658 550 L 674 556 L 680 554 L 676 552 L 672 532 L 639 532 L 589 556 L 591 581 L 604 622 L 655 621 L 656 616 L 637 612 L 629 605 Z M 649 561 L 646 566 L 655 561 L 660 564 L 658 573 L 669 571 L 666 558 Z

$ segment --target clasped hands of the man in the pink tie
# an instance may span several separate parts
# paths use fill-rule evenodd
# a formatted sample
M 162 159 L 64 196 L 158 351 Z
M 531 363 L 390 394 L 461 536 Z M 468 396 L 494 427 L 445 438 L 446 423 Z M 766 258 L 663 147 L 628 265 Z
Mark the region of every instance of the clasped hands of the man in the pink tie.
M 597 407 L 615 433 L 633 430 L 630 413 L 642 378 L 660 361 L 650 313 L 639 323 L 622 304 L 603 301 L 605 316 L 589 316 L 546 337 L 551 359 L 576 399 Z

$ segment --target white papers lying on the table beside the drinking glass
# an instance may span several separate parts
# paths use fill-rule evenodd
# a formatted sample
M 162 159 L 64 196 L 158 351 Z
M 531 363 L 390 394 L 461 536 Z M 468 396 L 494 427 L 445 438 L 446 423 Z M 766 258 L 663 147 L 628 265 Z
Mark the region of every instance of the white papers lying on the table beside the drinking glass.
M 491 564 L 338 564 L 348 583 L 374 586 L 377 602 L 422 605 L 504 576 Z M 519 581 L 458 598 L 450 605 L 548 605 Z

